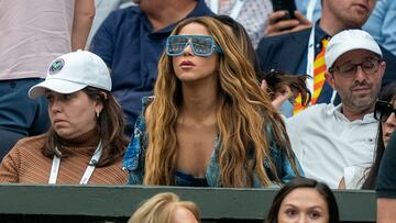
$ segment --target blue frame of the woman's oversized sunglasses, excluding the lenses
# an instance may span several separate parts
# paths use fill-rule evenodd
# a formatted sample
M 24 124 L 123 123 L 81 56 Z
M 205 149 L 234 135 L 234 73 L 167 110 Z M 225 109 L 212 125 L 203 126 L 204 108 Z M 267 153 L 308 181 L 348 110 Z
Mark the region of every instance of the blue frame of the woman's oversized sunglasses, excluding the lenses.
M 184 45 L 180 53 L 172 54 L 172 53 L 169 53 L 169 45 L 170 45 L 172 38 L 175 38 L 175 37 L 186 37 L 187 42 Z M 207 53 L 207 54 L 197 53 L 196 48 L 194 46 L 194 43 L 193 43 L 193 38 L 209 38 L 211 41 L 210 53 Z M 186 49 L 187 45 L 191 46 L 191 51 L 193 51 L 194 55 L 196 55 L 196 56 L 205 56 L 205 57 L 210 56 L 213 54 L 213 49 L 216 49 L 216 52 L 219 54 L 222 53 L 221 47 L 215 43 L 213 36 L 211 36 L 211 35 L 170 35 L 166 38 L 165 52 L 168 56 L 180 56 L 182 54 L 184 54 L 184 51 Z

